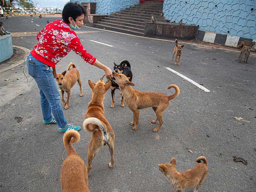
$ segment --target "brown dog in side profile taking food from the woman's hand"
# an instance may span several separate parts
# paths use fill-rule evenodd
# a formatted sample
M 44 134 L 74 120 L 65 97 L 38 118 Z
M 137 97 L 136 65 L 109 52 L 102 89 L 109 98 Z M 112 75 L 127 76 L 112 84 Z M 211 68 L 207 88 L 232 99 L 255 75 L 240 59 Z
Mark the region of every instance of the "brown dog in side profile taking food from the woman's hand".
M 174 84 L 169 85 L 167 89 L 174 87 L 176 92 L 173 95 L 168 96 L 164 93 L 136 91 L 131 87 L 134 86 L 134 84 L 129 81 L 130 78 L 123 74 L 113 72 L 113 77 L 111 77 L 111 79 L 119 85 L 126 105 L 133 112 L 133 121 L 130 123 L 130 125 L 134 125 L 135 123 L 135 127 L 132 128 L 133 130 L 138 129 L 140 109 L 152 107 L 156 113 L 156 119 L 152 120 L 151 123 L 159 122 L 156 129 L 154 129 L 154 132 L 157 132 L 163 124 L 162 115 L 164 110 L 169 106 L 169 100 L 180 94 L 179 87 Z

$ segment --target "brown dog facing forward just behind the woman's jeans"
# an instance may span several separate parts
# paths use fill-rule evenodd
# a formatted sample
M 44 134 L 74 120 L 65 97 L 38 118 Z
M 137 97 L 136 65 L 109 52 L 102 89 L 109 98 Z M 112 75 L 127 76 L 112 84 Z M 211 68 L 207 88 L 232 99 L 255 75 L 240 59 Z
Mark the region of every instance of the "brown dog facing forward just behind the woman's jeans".
M 70 67 L 73 66 L 73 68 L 70 69 Z M 69 70 L 70 69 L 70 70 Z M 69 103 L 69 97 L 70 97 L 70 93 L 71 93 L 71 88 L 74 86 L 74 84 L 77 83 L 80 86 L 80 97 L 83 97 L 83 93 L 82 93 L 82 83 L 80 80 L 80 74 L 75 66 L 74 63 L 69 63 L 68 65 L 68 74 L 66 75 L 67 71 L 63 71 L 62 73 L 57 73 L 57 77 L 55 78 L 59 89 L 61 90 L 61 100 L 63 102 L 63 104 L 65 105 L 65 109 L 68 109 L 68 103 Z M 64 100 L 64 92 L 67 93 L 67 102 Z

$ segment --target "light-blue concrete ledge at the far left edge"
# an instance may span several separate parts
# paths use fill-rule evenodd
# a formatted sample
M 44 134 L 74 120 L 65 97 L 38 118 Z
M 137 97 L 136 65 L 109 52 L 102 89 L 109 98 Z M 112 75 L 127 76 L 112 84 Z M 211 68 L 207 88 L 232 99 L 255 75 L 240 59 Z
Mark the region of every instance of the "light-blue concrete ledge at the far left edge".
M 12 34 L 0 36 L 0 48 L 0 62 L 12 57 Z

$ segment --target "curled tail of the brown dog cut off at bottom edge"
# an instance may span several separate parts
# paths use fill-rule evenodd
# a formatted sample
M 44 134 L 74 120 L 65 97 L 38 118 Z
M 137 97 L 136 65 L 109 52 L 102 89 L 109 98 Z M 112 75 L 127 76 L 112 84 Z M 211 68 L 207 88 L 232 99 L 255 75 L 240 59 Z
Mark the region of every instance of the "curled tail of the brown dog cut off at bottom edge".
M 71 139 L 73 137 L 73 139 Z M 75 130 L 66 131 L 63 136 L 63 143 L 69 155 L 77 155 L 72 143 L 76 143 L 80 140 L 80 134 Z

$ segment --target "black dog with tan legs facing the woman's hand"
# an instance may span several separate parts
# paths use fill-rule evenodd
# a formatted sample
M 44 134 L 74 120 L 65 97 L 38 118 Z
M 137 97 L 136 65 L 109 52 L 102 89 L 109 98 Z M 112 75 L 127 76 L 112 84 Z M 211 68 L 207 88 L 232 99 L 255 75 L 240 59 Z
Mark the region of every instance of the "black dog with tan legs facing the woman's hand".
M 126 66 L 125 66 L 126 65 Z M 114 72 L 116 73 L 122 73 L 127 77 L 130 77 L 129 81 L 132 81 L 132 71 L 131 71 L 131 65 L 129 61 L 122 60 L 119 65 L 116 65 L 114 62 Z M 116 84 L 114 81 L 112 81 L 109 77 L 107 77 L 107 82 L 111 81 L 111 95 L 112 95 L 112 105 L 111 108 L 115 107 L 115 90 L 119 89 L 119 85 Z M 119 89 L 120 90 L 120 89 Z M 121 107 L 124 107 L 124 97 L 122 95 L 122 104 Z

